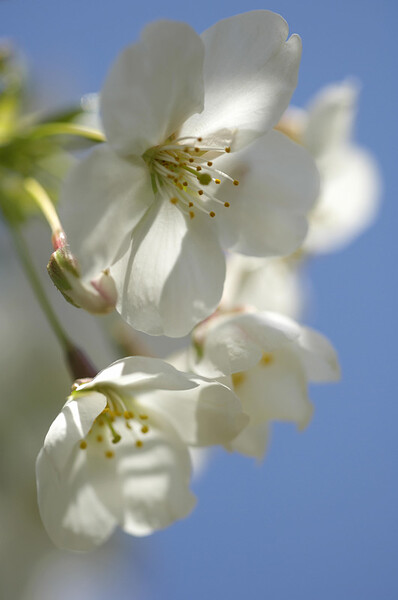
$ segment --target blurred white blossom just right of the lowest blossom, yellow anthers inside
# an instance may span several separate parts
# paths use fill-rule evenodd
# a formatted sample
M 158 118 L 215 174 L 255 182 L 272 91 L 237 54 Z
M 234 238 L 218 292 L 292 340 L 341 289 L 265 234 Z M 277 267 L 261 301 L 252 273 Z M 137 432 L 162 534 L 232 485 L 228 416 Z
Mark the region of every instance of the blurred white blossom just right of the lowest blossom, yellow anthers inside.
M 197 327 L 193 339 L 188 364 L 221 377 L 250 417 L 225 444 L 247 456 L 264 455 L 272 421 L 306 427 L 313 412 L 308 384 L 340 376 L 336 353 L 323 335 L 276 313 L 221 313 Z

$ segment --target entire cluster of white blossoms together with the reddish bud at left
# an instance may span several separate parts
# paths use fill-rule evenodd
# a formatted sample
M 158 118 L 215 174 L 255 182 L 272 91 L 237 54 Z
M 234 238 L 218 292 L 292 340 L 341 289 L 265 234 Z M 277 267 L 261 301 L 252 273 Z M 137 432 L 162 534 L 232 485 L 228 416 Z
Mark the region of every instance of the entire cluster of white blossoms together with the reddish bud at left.
M 377 171 L 350 141 L 351 82 L 285 112 L 300 56 L 282 17 L 253 11 L 201 36 L 154 23 L 108 74 L 103 142 L 64 182 L 48 270 L 76 306 L 191 338 L 168 361 L 80 371 L 37 459 L 60 547 L 187 516 L 191 448 L 262 458 L 270 423 L 306 427 L 308 384 L 339 378 L 330 342 L 293 320 L 297 267 L 370 222 Z

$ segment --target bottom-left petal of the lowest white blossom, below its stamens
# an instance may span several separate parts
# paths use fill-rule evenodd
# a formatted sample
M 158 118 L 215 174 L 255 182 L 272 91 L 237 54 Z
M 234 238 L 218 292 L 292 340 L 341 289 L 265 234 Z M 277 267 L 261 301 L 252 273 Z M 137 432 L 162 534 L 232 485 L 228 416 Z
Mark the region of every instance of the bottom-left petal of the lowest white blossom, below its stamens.
M 44 447 L 37 458 L 36 476 L 40 516 L 59 548 L 88 551 L 104 542 L 116 527 L 89 484 L 86 453 L 75 444 L 60 472 L 53 449 Z

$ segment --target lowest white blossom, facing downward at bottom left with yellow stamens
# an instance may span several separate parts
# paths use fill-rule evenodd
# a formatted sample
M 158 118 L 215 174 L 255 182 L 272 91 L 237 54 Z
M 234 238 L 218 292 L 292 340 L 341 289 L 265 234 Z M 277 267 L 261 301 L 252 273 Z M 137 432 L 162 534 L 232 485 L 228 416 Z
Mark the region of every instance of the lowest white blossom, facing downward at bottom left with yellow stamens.
M 90 550 L 119 525 L 144 536 L 186 517 L 188 445 L 226 443 L 247 423 L 218 382 L 161 360 L 119 360 L 76 385 L 37 459 L 40 514 L 54 543 Z

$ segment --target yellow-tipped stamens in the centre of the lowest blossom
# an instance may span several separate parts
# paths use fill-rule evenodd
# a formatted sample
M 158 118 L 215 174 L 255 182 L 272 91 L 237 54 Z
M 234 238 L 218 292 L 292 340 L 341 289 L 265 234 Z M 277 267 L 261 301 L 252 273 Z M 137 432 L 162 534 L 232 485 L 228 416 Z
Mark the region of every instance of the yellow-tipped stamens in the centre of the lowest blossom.
M 115 444 L 124 436 L 133 437 L 135 446 L 141 448 L 144 445 L 143 436 L 150 431 L 148 415 L 136 410 L 138 407 L 134 406 L 133 398 L 121 398 L 110 390 L 107 390 L 106 396 L 107 406 L 80 441 L 80 449 L 99 451 L 106 458 L 113 458 Z

